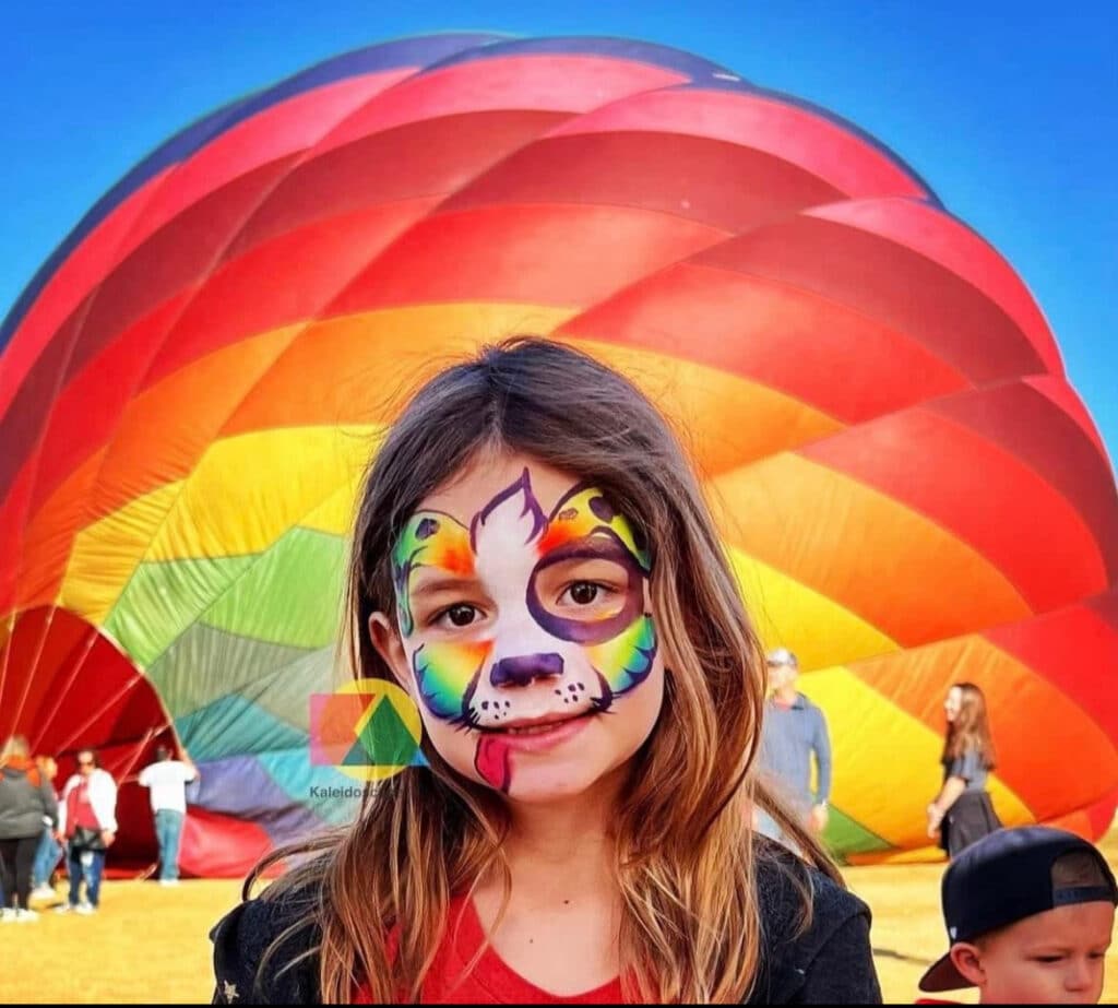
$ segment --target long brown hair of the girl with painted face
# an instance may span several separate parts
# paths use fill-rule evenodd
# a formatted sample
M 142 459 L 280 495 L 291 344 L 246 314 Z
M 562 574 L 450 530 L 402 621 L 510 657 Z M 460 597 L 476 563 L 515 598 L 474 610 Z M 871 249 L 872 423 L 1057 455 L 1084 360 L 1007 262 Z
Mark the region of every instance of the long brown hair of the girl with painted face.
M 523 453 L 612 494 L 654 552 L 652 597 L 665 654 L 664 706 L 632 762 L 616 818 L 624 915 L 622 976 L 642 1001 L 739 1001 L 757 974 L 760 907 L 754 804 L 808 860 L 839 878 L 811 835 L 755 781 L 765 660 L 694 473 L 655 407 L 626 378 L 561 343 L 518 338 L 428 381 L 392 425 L 366 479 L 345 600 L 357 676 L 390 679 L 369 616 L 395 613 L 391 548 L 420 501 L 482 451 Z M 293 854 L 265 898 L 314 894 L 320 996 L 418 1000 L 447 905 L 508 866 L 506 809 L 455 774 L 425 738 L 429 770 L 370 789 L 357 822 L 278 850 L 246 883 Z M 809 895 L 804 893 L 804 920 Z M 395 931 L 392 950 L 389 933 Z M 280 957 L 265 969 L 280 969 Z

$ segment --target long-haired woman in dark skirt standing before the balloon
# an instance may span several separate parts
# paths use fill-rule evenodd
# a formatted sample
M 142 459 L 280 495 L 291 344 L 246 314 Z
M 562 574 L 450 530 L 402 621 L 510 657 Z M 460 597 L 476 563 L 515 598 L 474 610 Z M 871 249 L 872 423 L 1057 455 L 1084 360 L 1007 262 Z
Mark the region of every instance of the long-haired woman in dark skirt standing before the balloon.
M 954 858 L 1002 823 L 986 791 L 995 761 L 983 691 L 970 682 L 953 686 L 944 713 L 944 786 L 928 806 L 928 836 L 938 831 L 939 846 Z

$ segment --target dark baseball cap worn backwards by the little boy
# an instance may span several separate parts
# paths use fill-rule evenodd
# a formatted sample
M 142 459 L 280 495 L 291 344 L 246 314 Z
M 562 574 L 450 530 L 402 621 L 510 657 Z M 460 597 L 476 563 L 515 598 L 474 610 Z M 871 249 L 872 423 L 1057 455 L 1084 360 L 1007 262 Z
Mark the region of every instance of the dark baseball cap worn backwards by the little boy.
M 1055 863 L 1078 852 L 1097 861 L 1100 885 L 1060 887 L 1053 882 Z M 947 936 L 955 944 L 1058 906 L 1096 901 L 1118 905 L 1118 886 L 1106 858 L 1087 840 L 1062 829 L 1025 826 L 996 830 L 959 854 L 944 875 L 942 897 Z M 920 979 L 920 990 L 928 992 L 972 986 L 950 953 Z

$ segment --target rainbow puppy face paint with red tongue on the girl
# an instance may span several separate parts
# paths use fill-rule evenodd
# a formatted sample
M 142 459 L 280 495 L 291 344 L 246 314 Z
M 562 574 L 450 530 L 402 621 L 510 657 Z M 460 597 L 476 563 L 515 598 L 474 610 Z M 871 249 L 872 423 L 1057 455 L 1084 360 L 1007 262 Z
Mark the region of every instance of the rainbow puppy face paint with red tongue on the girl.
M 392 573 L 419 697 L 477 732 L 474 766 L 493 788 L 508 791 L 512 755 L 532 751 L 505 725 L 600 714 L 647 678 L 651 569 L 647 544 L 605 493 L 577 484 L 546 514 L 527 469 L 467 520 L 408 520 Z

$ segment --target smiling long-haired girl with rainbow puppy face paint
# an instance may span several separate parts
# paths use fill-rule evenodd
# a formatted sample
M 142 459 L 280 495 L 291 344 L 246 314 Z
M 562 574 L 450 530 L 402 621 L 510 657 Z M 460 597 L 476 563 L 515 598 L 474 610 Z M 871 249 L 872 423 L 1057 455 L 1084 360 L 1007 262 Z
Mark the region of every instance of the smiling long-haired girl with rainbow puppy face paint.
M 424 386 L 369 472 L 347 610 L 429 769 L 257 868 L 246 899 L 300 856 L 211 933 L 217 1002 L 880 1001 L 866 907 L 755 784 L 764 657 L 620 375 L 515 339 Z

